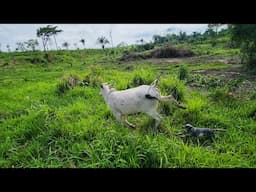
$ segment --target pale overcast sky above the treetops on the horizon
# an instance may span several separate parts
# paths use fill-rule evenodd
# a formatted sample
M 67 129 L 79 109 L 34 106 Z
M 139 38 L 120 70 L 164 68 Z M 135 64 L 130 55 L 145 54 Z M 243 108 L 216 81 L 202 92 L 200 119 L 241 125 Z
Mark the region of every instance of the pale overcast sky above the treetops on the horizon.
M 41 39 L 36 37 L 36 30 L 39 27 L 45 27 L 48 24 L 0 24 L 0 44 L 1 50 L 6 51 L 6 45 L 9 44 L 11 50 L 15 50 L 17 42 L 24 42 L 29 39 L 38 39 L 42 49 Z M 146 42 L 152 40 L 153 35 L 165 35 L 167 29 L 171 29 L 169 33 L 179 33 L 180 31 L 188 34 L 197 31 L 204 32 L 207 24 L 50 24 L 58 26 L 63 32 L 58 34 L 56 39 L 58 46 L 63 42 L 70 43 L 70 49 L 74 49 L 74 43 L 79 48 L 82 44 L 80 39 L 85 39 L 86 48 L 101 48 L 96 44 L 96 40 L 100 36 L 105 36 L 110 40 L 110 30 L 112 30 L 113 44 L 116 46 L 120 42 L 127 44 L 135 44 L 137 40 L 143 38 Z M 111 44 L 107 45 L 110 47 Z M 55 49 L 52 41 L 50 49 Z

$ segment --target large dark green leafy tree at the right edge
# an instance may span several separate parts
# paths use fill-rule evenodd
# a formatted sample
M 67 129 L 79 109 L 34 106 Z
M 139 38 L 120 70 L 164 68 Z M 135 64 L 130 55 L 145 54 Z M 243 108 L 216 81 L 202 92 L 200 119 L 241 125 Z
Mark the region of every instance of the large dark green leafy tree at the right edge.
M 242 62 L 249 68 L 256 68 L 256 24 L 229 25 L 231 40 L 241 51 Z

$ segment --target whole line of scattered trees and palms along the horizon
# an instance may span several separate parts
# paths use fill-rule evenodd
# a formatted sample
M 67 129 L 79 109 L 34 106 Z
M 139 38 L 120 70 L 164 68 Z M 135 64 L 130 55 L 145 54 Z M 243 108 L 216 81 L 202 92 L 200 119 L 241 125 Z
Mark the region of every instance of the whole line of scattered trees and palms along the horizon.
M 153 42 L 146 43 L 143 38 L 137 40 L 137 47 L 141 50 L 147 50 L 154 48 L 155 45 L 163 44 L 178 44 L 178 43 L 191 43 L 191 44 L 200 44 L 205 40 L 210 40 L 212 46 L 217 45 L 217 39 L 219 37 L 230 37 L 230 46 L 237 47 L 240 49 L 242 62 L 247 64 L 249 67 L 256 68 L 256 24 L 228 24 L 227 28 L 219 30 L 222 24 L 208 24 L 208 28 L 203 33 L 193 32 L 188 35 L 186 32 L 180 31 L 179 34 L 168 33 L 165 36 L 154 35 L 152 40 Z M 167 31 L 171 31 L 168 29 Z M 46 27 L 40 27 L 36 31 L 36 35 L 41 39 L 43 50 L 47 51 L 48 45 L 51 39 L 54 40 L 56 50 L 59 50 L 58 42 L 56 36 L 62 33 L 63 30 L 58 29 L 57 26 L 47 25 Z M 111 31 L 112 32 L 112 31 Z M 113 47 L 112 33 L 110 32 L 111 44 Z M 79 43 L 85 48 L 85 39 L 80 39 Z M 97 44 L 100 44 L 102 49 L 105 49 L 105 46 L 109 44 L 109 40 L 104 37 L 98 37 Z M 17 42 L 16 51 L 35 51 L 36 47 L 39 46 L 37 39 L 29 39 L 26 42 Z M 70 43 L 64 42 L 62 47 L 69 49 Z M 77 43 L 74 43 L 74 46 L 77 47 Z M 121 42 L 117 47 L 127 46 L 125 42 Z M 11 47 L 9 44 L 6 45 L 8 52 L 11 52 Z M 78 48 L 77 48 L 78 49 Z M 1 44 L 0 44 L 1 51 Z

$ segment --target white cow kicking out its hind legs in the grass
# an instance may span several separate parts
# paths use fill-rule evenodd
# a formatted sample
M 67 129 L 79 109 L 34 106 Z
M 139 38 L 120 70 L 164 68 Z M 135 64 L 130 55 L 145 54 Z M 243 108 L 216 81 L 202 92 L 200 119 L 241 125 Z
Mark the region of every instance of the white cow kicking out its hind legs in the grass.
M 156 120 L 155 127 L 157 128 L 162 118 L 157 112 L 159 102 L 172 102 L 180 108 L 186 108 L 179 104 L 172 95 L 161 96 L 156 86 L 157 82 L 156 79 L 151 85 L 141 85 L 121 91 L 112 88 L 108 83 L 103 83 L 100 94 L 104 97 L 117 121 L 125 122 L 135 128 L 135 125 L 128 122 L 127 115 L 142 112 Z

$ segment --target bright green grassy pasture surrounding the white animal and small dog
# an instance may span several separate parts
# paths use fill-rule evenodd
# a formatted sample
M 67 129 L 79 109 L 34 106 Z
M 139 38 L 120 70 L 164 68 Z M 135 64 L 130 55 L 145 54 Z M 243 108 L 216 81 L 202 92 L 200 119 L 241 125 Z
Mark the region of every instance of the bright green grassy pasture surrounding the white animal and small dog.
M 51 51 L 52 58 L 0 53 L 0 167 L 256 167 L 256 79 L 239 62 L 223 61 L 236 49 L 190 48 L 195 59 L 179 62 L 119 62 L 119 49 Z M 77 83 L 69 85 L 70 77 Z M 161 104 L 157 130 L 144 114 L 129 116 L 136 130 L 122 127 L 99 95 L 100 83 L 121 90 L 157 77 L 162 94 L 187 109 Z M 185 141 L 177 133 L 186 123 L 226 132 L 213 143 Z

